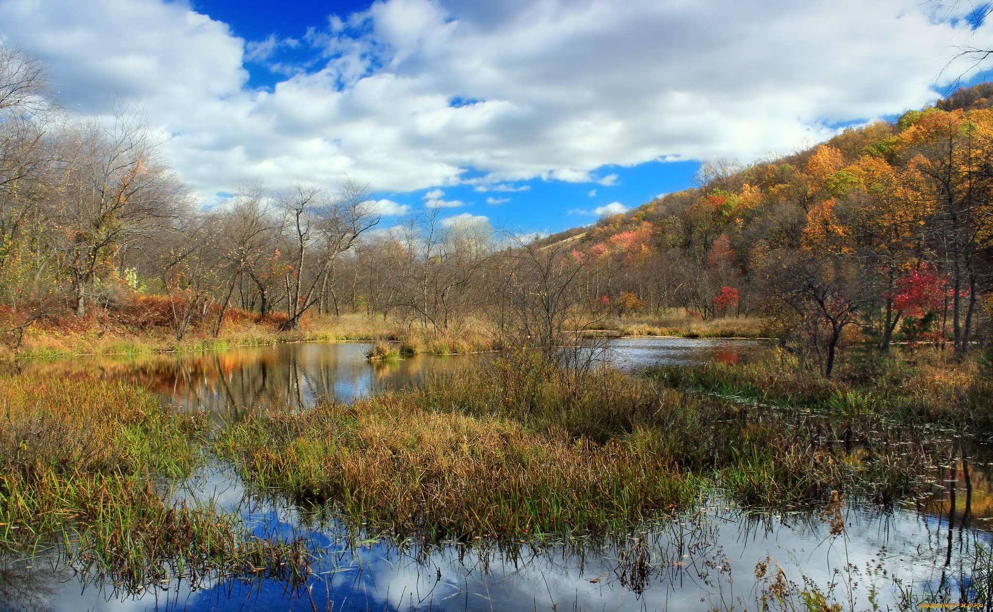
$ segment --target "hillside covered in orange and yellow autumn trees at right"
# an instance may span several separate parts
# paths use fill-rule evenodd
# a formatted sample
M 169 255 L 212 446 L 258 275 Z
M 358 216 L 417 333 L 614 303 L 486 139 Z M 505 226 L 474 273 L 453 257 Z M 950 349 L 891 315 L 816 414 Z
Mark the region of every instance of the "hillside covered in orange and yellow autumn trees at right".
M 849 325 L 880 351 L 947 337 L 960 355 L 988 333 L 991 92 L 748 167 L 709 163 L 698 188 L 541 242 L 572 244 L 604 306 L 774 315 L 828 350 Z

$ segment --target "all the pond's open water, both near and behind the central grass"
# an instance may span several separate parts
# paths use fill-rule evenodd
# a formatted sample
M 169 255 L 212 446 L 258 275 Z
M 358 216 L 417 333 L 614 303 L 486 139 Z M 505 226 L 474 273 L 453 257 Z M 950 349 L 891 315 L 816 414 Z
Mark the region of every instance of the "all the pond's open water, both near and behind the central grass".
M 163 403 L 209 410 L 300 408 L 416 384 L 432 374 L 477 367 L 478 356 L 418 357 L 370 365 L 367 345 L 297 344 L 142 359 L 86 359 L 25 366 L 52 376 L 96 368 L 140 381 Z M 606 359 L 635 372 L 656 363 L 745 363 L 770 347 L 758 341 L 626 338 Z M 962 446 L 959 445 L 959 448 Z M 305 585 L 244 578 L 182 577 L 123 592 L 44 553 L 0 558 L 0 610 L 736 610 L 755 609 L 783 576 L 823 588 L 858 609 L 872 587 L 886 609 L 901 588 L 950 586 L 988 546 L 993 453 L 968 447 L 934 477 L 935 496 L 895 507 L 845 507 L 845 529 L 816 513 L 741 509 L 710 491 L 691 511 L 659 517 L 604 540 L 449 542 L 424 547 L 367 533 L 325 509 L 249 494 L 230 466 L 208 462 L 178 497 L 213 499 L 241 514 L 257 535 L 304 536 L 320 551 Z M 766 571 L 757 571 L 760 563 Z M 761 566 L 760 566 L 761 567 Z M 761 574 L 761 575 L 759 575 Z

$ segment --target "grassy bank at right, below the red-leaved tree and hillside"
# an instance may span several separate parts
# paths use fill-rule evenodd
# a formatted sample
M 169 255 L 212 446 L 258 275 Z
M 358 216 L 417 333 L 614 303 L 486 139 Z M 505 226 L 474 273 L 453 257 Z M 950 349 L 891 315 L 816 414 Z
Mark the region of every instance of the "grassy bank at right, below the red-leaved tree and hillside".
M 852 359 L 832 379 L 802 368 L 786 354 L 744 366 L 658 368 L 648 376 L 671 388 L 692 388 L 822 413 L 883 418 L 951 428 L 993 439 L 993 376 L 975 355 L 955 362 L 949 353 Z

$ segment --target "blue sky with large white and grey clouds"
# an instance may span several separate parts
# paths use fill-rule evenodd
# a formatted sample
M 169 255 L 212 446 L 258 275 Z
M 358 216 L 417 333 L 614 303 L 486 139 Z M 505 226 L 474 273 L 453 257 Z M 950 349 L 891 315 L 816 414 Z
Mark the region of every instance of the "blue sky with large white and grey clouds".
M 931 103 L 993 48 L 965 1 L 0 0 L 78 115 L 139 108 L 204 207 L 368 184 L 550 232 Z M 983 68 L 983 67 L 978 67 Z

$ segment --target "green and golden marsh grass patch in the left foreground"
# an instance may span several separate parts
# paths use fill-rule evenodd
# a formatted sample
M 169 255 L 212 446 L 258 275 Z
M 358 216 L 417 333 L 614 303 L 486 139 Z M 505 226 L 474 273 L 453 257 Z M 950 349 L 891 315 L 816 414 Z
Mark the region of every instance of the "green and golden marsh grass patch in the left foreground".
M 299 543 L 250 536 L 210 504 L 170 501 L 169 480 L 199 461 L 191 442 L 204 416 L 165 411 L 134 385 L 3 375 L 0 419 L 0 547 L 54 546 L 131 590 L 252 567 L 303 575 Z

